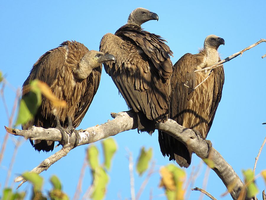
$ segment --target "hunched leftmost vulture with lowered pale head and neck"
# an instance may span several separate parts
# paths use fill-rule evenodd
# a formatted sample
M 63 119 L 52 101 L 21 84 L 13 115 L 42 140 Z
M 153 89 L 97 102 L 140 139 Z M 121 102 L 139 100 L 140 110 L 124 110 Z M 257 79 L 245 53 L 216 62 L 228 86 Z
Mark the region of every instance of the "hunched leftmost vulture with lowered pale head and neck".
M 43 54 L 33 65 L 30 75 L 22 87 L 22 98 L 29 94 L 26 86 L 31 80 L 45 82 L 60 100 L 67 102 L 66 108 L 55 108 L 51 102 L 42 96 L 42 104 L 34 118 L 22 125 L 22 129 L 31 126 L 43 128 L 58 128 L 64 144 L 66 132 L 76 133 L 76 146 L 79 135 L 76 128 L 87 112 L 99 87 L 102 64 L 114 61 L 113 55 L 87 49 L 77 41 L 65 41 L 59 47 Z M 37 151 L 52 151 L 53 141 L 30 140 Z

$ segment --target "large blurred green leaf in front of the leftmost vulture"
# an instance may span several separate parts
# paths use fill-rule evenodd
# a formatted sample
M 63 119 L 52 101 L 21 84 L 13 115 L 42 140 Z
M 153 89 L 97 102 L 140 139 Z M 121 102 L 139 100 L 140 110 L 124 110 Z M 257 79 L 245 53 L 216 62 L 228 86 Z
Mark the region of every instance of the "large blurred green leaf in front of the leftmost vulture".
M 20 100 L 17 121 L 15 126 L 26 124 L 33 119 L 42 103 L 42 93 L 37 86 L 38 80 L 30 82 L 30 92 Z

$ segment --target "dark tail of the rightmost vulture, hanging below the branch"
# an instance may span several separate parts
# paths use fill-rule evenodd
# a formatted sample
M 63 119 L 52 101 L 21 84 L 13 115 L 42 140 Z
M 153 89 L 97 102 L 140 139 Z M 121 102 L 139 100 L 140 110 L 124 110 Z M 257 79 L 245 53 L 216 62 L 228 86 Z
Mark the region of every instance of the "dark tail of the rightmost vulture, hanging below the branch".
M 192 153 L 186 145 L 162 131 L 158 131 L 158 140 L 163 156 L 168 156 L 169 161 L 175 160 L 180 167 L 189 167 Z

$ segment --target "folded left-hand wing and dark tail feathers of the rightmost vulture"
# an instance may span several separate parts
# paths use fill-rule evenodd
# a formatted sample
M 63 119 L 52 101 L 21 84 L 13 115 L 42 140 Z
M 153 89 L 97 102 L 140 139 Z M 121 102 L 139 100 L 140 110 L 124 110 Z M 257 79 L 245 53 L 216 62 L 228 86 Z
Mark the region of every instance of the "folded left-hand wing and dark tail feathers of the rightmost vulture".
M 169 117 L 181 125 L 184 113 L 189 107 L 192 88 L 195 87 L 194 71 L 196 69 L 197 59 L 195 55 L 189 53 L 182 56 L 174 65 Z M 191 153 L 183 143 L 174 137 L 159 131 L 159 144 L 163 156 L 169 156 L 169 160 L 176 160 L 181 167 L 188 167 L 191 163 Z

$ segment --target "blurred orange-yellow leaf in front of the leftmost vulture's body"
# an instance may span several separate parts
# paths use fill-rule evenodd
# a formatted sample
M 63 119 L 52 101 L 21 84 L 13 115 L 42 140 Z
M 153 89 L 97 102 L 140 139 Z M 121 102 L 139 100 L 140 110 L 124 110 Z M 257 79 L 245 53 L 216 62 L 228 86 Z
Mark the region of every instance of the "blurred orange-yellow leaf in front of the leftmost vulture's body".
M 37 82 L 37 86 L 39 87 L 40 91 L 42 92 L 43 96 L 45 96 L 47 99 L 51 101 L 53 106 L 55 107 L 63 107 L 65 108 L 67 106 L 67 102 L 64 100 L 58 99 L 53 92 L 51 91 L 50 87 L 42 81 Z

